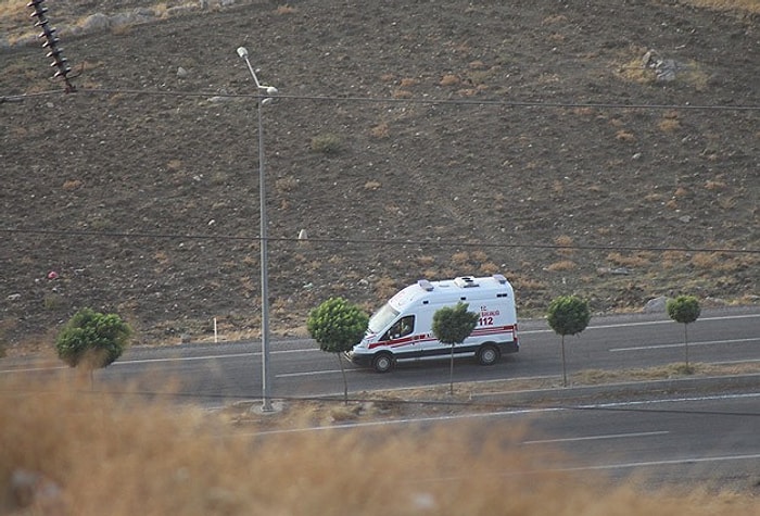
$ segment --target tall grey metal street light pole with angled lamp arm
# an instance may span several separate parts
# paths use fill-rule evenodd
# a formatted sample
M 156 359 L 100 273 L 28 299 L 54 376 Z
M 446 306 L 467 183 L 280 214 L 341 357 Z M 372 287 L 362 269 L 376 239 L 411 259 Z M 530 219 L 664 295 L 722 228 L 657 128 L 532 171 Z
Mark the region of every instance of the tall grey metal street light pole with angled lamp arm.
M 277 93 L 277 88 L 274 86 L 263 86 L 256 77 L 256 72 L 251 66 L 248 50 L 245 47 L 238 48 L 238 55 L 245 60 L 251 77 L 256 85 L 258 99 L 256 102 L 256 111 L 258 112 L 258 200 L 261 211 L 262 228 L 259 231 L 262 251 L 261 268 L 262 268 L 262 411 L 271 412 L 271 380 L 269 377 L 269 274 L 267 259 L 267 217 L 266 217 L 266 176 L 264 174 L 264 125 L 262 123 L 262 106 L 265 104 L 268 97 L 262 96 L 262 90 L 268 95 Z

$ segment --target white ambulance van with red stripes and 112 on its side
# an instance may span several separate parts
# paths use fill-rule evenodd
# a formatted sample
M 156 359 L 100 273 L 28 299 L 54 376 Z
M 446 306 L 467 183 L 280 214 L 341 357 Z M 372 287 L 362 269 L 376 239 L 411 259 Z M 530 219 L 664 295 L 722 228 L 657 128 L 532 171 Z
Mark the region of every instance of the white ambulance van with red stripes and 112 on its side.
M 464 276 L 442 281 L 421 279 L 397 292 L 369 319 L 362 342 L 346 353 L 357 365 L 387 373 L 397 361 L 448 356 L 449 344 L 433 335 L 433 314 L 458 302 L 480 314 L 478 326 L 456 355 L 474 356 L 482 365 L 495 364 L 503 353 L 516 353 L 517 313 L 509 281 L 501 274 L 474 278 Z

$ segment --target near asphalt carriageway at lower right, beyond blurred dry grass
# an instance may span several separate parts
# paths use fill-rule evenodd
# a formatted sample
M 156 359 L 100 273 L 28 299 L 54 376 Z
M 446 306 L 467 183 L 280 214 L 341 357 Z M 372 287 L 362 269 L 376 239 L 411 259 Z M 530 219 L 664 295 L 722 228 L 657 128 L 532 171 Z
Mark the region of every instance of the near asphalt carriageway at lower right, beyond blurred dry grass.
M 523 445 L 568 453 L 547 469 L 758 492 L 759 428 L 760 392 L 710 394 L 547 410 Z

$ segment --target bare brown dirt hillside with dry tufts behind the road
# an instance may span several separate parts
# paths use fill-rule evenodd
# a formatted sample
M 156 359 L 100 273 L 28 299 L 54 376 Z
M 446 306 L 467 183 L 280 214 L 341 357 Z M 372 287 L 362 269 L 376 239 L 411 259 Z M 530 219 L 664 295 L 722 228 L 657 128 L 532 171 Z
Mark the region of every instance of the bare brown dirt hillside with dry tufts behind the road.
M 227 3 L 227 2 L 225 2 Z M 0 342 L 79 307 L 139 343 L 259 327 L 255 88 L 271 325 L 331 295 L 505 274 L 578 293 L 758 303 L 760 15 L 679 1 L 47 2 L 0 10 Z M 305 239 L 300 239 L 306 237 Z M 51 274 L 54 273 L 54 274 Z

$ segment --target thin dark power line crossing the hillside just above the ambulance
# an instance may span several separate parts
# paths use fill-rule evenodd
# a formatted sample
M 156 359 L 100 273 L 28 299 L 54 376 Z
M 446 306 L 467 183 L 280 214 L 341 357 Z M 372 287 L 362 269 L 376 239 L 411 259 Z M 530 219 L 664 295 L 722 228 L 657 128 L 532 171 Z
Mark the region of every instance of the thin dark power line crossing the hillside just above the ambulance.
M 226 240 L 226 241 L 257 241 L 257 236 L 235 235 L 192 235 L 192 234 L 156 234 L 156 232 L 128 232 L 128 231 L 84 231 L 68 229 L 14 229 L 0 228 L 0 232 L 9 235 L 52 235 L 56 237 L 94 237 L 94 238 L 128 238 L 128 239 L 185 239 L 185 240 Z M 730 249 L 730 248 L 687 248 L 687 247 L 646 247 L 646 246 L 559 246 L 550 243 L 507 243 L 507 242 L 472 242 L 454 240 L 410 240 L 410 239 L 372 239 L 372 238 L 307 238 L 297 237 L 268 237 L 267 241 L 274 242 L 315 242 L 327 244 L 381 244 L 381 246 L 415 246 L 415 247 L 454 247 L 454 248 L 504 248 L 504 249 L 547 249 L 547 250 L 575 250 L 575 251 L 651 251 L 651 252 L 699 252 L 699 253 L 725 253 L 725 254 L 760 254 L 760 249 Z

